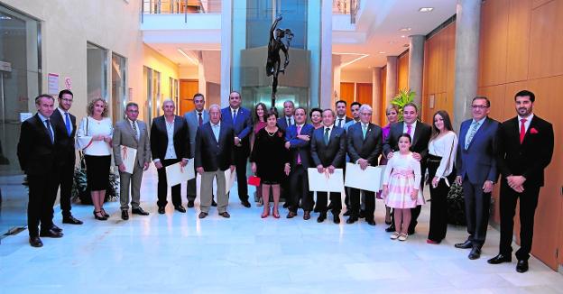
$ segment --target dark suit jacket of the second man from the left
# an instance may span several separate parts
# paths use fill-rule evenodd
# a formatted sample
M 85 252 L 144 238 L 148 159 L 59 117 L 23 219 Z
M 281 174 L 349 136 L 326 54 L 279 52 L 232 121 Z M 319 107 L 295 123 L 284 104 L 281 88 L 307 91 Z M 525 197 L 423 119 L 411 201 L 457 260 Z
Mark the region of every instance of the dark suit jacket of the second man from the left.
M 72 132 L 69 135 L 67 131 L 67 124 L 65 124 L 65 118 L 60 115 L 59 109 L 55 109 L 50 117 L 51 126 L 57 135 L 57 161 L 60 164 L 71 163 L 74 165 L 76 161 L 76 151 L 74 148 L 74 136 L 77 132 L 76 126 L 76 116 L 70 115 L 70 125 L 72 126 Z

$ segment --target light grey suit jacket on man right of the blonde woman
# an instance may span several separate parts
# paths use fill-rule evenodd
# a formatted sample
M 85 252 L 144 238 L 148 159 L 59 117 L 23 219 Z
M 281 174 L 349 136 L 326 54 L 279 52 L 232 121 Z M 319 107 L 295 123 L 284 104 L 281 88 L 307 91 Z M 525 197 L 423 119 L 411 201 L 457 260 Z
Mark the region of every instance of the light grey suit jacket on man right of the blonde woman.
M 137 120 L 139 140 L 134 136 L 133 127 L 128 119 L 117 122 L 114 126 L 114 136 L 112 144 L 114 147 L 115 165 L 123 163 L 119 145 L 124 145 L 137 150 L 137 164 L 143 168 L 145 162 L 151 162 L 151 142 L 149 142 L 149 131 L 144 122 Z

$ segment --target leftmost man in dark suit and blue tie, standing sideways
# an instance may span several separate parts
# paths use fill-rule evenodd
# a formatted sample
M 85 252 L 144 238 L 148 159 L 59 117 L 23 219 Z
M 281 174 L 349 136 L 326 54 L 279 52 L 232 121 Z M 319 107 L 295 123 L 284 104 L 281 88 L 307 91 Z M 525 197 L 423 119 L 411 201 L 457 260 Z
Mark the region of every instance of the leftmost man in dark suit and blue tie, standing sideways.
M 17 145 L 20 167 L 27 175 L 29 183 L 27 229 L 29 243 L 33 247 L 43 245 L 40 236 L 62 237 L 60 228 L 52 222 L 60 170 L 56 130 L 50 120 L 54 104 L 55 99 L 46 94 L 35 98 L 37 114 L 23 122 Z

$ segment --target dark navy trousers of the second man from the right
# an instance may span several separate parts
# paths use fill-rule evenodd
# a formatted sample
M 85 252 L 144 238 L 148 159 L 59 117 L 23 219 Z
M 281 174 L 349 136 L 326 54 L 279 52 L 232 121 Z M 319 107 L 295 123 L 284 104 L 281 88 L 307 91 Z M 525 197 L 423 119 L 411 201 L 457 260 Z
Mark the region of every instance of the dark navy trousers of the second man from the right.
M 467 240 L 481 248 L 485 243 L 487 225 L 489 225 L 489 208 L 491 193 L 483 192 L 483 184 L 472 184 L 466 176 L 462 186 L 466 200 Z

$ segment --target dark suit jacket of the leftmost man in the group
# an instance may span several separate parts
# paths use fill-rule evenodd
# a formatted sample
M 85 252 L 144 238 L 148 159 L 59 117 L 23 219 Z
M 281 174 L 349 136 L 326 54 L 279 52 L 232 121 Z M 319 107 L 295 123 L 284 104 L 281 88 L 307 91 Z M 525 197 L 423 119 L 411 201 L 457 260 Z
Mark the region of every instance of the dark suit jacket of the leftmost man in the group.
M 51 124 L 52 127 L 52 124 Z M 51 143 L 50 132 L 35 114 L 22 123 L 20 141 L 17 145 L 17 156 L 20 167 L 30 176 L 50 174 L 58 165 L 57 162 L 57 130 L 53 128 L 54 143 Z

